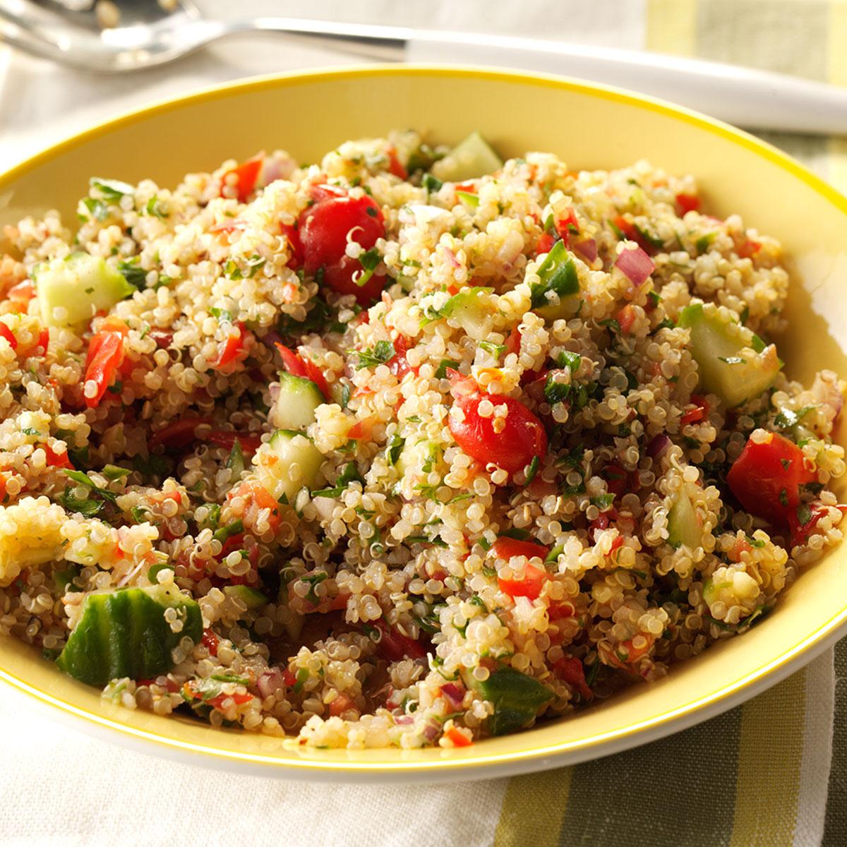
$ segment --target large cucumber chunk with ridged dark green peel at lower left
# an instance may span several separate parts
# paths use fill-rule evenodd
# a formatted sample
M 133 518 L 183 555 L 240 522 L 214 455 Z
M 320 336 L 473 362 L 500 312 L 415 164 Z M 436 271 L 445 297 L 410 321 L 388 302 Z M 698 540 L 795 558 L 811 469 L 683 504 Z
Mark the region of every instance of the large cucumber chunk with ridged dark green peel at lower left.
M 165 620 L 169 608 L 183 624 L 180 632 Z M 200 606 L 174 584 L 91 594 L 56 664 L 91 685 L 157 677 L 174 667 L 174 647 L 186 636 L 199 644 L 202 631 Z

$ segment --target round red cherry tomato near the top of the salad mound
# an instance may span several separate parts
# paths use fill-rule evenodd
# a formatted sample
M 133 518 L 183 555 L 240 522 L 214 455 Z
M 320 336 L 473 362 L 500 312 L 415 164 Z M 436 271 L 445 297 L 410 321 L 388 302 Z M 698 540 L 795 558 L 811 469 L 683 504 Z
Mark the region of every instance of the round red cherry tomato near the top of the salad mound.
M 325 285 L 368 304 L 379 296 L 385 279 L 374 274 L 364 285 L 357 285 L 363 268 L 357 259 L 346 255 L 350 234 L 365 250 L 385 237 L 385 218 L 372 197 L 325 197 L 305 209 L 300 215 L 303 268 L 307 274 L 323 268 Z

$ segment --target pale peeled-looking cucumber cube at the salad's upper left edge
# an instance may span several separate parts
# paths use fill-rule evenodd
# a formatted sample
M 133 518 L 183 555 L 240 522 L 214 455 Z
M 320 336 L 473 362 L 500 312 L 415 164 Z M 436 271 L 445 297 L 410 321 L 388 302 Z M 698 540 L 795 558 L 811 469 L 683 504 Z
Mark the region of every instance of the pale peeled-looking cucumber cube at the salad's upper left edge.
M 97 312 L 108 312 L 136 291 L 104 258 L 82 252 L 36 265 L 32 279 L 42 321 L 72 329 L 86 324 Z

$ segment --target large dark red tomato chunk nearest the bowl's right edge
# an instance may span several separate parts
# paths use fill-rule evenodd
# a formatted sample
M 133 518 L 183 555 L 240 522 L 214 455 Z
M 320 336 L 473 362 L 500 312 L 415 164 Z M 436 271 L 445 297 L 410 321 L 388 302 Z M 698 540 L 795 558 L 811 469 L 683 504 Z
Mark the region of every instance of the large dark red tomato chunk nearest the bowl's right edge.
M 748 440 L 727 474 L 730 489 L 748 512 L 781 526 L 800 504 L 800 485 L 815 479 L 800 447 L 775 433 L 761 444 Z

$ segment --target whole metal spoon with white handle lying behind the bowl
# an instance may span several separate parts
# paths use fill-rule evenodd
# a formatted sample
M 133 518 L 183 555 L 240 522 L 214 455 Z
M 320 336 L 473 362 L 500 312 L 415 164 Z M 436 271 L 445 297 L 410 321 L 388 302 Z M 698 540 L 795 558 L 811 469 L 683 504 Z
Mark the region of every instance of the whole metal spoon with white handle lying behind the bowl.
M 96 3 L 78 10 L 85 3 L 0 0 L 0 36 L 76 68 L 114 72 L 165 64 L 224 36 L 267 30 L 372 59 L 507 66 L 625 86 L 756 129 L 847 133 L 847 90 L 728 64 L 401 26 L 268 17 L 221 21 L 204 17 L 191 0 L 122 0 L 117 25 L 102 28 Z

